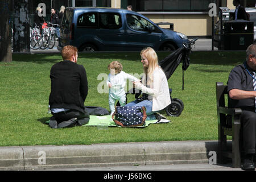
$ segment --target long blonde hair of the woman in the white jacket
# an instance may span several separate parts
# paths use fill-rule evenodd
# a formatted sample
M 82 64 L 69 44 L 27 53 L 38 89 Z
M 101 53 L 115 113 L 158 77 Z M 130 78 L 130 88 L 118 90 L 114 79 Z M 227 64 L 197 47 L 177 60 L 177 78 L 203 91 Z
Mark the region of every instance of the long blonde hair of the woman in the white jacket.
M 148 67 L 143 68 L 143 69 L 144 69 L 144 73 L 147 76 L 147 85 L 150 86 L 150 85 L 152 85 L 152 82 L 153 82 L 153 77 L 152 77 L 153 72 L 154 72 L 155 68 L 159 68 L 158 55 L 156 55 L 155 50 L 152 49 L 151 47 L 146 47 L 146 48 L 142 49 L 141 56 L 142 55 L 145 56 L 146 59 L 148 60 Z M 146 78 L 144 78 L 144 79 L 146 79 Z

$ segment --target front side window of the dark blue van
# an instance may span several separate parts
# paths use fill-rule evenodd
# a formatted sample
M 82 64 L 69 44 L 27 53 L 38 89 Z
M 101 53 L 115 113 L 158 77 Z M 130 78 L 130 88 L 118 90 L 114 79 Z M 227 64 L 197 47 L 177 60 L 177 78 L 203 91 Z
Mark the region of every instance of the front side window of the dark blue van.
M 142 18 L 141 16 L 127 14 L 126 19 L 127 19 L 128 26 L 133 30 L 148 31 L 148 27 L 151 26 L 152 31 L 155 32 L 154 24 L 148 22 L 146 19 Z

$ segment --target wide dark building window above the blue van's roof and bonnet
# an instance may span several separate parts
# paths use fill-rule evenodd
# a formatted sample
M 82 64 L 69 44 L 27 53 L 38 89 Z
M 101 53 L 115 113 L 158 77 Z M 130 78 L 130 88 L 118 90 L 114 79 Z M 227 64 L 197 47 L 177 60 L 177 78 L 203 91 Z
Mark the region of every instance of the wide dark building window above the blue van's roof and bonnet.
M 135 11 L 208 11 L 216 0 L 128 0 Z

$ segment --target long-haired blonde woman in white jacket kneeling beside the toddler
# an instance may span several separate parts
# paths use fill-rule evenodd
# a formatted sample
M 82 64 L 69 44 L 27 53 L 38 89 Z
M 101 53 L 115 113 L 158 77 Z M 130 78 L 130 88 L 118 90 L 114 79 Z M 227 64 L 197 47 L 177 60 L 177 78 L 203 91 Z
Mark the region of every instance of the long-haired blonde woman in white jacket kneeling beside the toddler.
M 158 56 L 151 47 L 141 51 L 144 76 L 142 82 L 134 81 L 134 87 L 142 91 L 142 97 L 126 106 L 146 107 L 147 120 L 166 119 L 158 111 L 171 104 L 166 75 L 158 65 Z

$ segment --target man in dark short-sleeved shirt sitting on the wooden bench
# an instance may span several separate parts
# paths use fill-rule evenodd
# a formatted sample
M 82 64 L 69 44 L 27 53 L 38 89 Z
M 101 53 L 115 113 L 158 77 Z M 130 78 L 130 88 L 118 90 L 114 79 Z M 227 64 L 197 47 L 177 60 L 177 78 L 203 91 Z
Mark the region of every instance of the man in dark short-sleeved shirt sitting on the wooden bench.
M 229 107 L 242 109 L 242 144 L 245 151 L 244 170 L 255 170 L 255 122 L 256 122 L 256 44 L 246 50 L 246 61 L 237 65 L 229 75 Z

